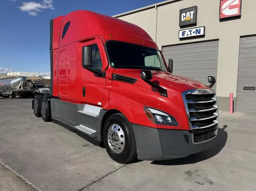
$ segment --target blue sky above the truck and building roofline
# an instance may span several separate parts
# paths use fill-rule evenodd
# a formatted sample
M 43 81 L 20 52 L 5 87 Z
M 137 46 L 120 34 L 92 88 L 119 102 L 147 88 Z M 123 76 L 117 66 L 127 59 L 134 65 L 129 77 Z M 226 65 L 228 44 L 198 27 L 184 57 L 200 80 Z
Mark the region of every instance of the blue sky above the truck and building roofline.
M 0 73 L 49 73 L 49 20 L 78 9 L 116 15 L 163 0 L 0 0 Z

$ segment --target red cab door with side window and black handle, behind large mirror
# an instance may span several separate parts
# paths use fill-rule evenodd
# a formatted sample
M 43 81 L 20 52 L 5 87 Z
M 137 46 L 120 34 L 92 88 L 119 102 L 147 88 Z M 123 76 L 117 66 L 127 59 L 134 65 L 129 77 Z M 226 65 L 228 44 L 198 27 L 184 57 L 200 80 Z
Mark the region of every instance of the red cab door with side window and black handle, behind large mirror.
M 102 64 L 102 57 L 105 56 L 105 52 L 102 51 L 100 47 L 101 40 L 90 40 L 88 42 L 82 43 L 83 46 L 92 47 L 92 66 L 91 68 L 98 71 L 104 71 L 104 66 Z M 103 92 L 106 86 L 106 79 L 104 77 L 98 77 L 93 72 L 88 71 L 82 67 L 81 74 L 81 92 L 82 101 L 89 103 L 91 105 L 102 106 Z

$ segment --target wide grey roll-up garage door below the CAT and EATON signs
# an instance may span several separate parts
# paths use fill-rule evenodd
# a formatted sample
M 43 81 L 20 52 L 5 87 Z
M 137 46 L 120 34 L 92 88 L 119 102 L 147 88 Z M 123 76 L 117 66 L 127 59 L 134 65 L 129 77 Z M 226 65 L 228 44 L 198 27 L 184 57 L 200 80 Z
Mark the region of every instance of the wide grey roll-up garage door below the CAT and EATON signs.
M 173 59 L 173 74 L 209 85 L 208 76 L 217 80 L 218 40 L 163 47 L 165 61 Z M 213 89 L 216 91 L 216 84 Z

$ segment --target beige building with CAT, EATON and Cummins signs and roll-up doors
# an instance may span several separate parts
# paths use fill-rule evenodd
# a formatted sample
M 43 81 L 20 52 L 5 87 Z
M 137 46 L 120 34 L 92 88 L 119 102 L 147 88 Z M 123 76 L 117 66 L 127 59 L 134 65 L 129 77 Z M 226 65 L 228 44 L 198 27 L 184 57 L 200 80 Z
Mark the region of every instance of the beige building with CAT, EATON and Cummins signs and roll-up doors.
M 220 110 L 256 113 L 255 0 L 167 0 L 113 17 L 140 26 L 157 43 L 173 73 L 208 85 L 217 79 Z

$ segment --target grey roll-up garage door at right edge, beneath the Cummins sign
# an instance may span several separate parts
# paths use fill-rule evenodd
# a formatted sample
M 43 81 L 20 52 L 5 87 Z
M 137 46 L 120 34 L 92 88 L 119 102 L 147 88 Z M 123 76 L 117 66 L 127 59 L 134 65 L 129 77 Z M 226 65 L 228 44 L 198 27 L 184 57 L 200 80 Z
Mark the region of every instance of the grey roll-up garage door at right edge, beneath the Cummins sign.
M 256 113 L 256 37 L 240 39 L 236 111 Z

